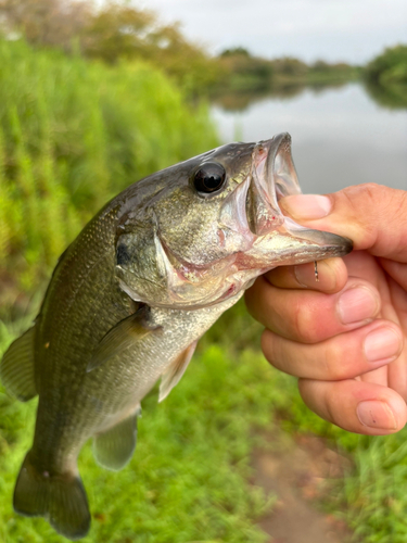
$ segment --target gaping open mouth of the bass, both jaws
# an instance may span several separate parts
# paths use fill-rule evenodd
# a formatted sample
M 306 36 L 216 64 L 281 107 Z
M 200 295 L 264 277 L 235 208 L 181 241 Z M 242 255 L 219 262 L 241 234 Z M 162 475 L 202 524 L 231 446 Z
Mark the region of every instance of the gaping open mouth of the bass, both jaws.
M 281 198 L 301 193 L 291 156 L 291 136 L 283 132 L 259 141 L 253 149 L 250 176 L 225 203 L 228 226 L 234 223 L 232 229 L 240 230 L 247 241 L 251 238 L 252 248 L 246 248 L 239 258 L 242 266 L 259 266 L 259 261 L 265 267 L 300 264 L 352 251 L 349 239 L 306 228 L 283 215 Z

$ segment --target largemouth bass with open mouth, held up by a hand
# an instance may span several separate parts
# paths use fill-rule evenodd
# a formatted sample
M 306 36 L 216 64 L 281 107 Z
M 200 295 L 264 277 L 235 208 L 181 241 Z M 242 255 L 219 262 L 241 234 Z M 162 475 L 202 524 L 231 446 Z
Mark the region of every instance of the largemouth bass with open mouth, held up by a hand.
M 90 220 L 60 258 L 35 325 L 1 362 L 12 394 L 39 395 L 17 513 L 46 517 L 71 540 L 86 535 L 77 469 L 86 441 L 100 465 L 123 468 L 142 399 L 158 378 L 166 397 L 199 338 L 257 276 L 352 250 L 283 216 L 279 200 L 300 192 L 282 134 L 153 174 Z

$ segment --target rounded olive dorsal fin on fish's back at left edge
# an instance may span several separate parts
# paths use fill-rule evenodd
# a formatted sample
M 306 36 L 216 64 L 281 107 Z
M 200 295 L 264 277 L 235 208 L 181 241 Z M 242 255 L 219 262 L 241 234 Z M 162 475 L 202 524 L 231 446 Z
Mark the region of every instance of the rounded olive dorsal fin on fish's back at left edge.
M 0 364 L 4 388 L 22 402 L 37 395 L 34 374 L 35 327 L 16 339 L 5 351 Z

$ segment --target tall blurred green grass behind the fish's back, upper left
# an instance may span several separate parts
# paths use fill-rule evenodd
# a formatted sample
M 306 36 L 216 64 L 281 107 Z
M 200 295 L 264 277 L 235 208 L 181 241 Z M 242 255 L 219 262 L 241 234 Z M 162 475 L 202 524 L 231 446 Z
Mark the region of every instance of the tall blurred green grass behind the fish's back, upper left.
M 33 287 L 111 197 L 216 143 L 206 109 L 148 64 L 0 40 L 0 270 Z

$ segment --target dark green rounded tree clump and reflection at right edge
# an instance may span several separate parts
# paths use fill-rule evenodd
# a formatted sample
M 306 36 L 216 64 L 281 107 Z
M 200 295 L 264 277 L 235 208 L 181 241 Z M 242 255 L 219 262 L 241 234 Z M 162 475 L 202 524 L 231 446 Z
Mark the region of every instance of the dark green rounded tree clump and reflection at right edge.
M 382 105 L 407 108 L 407 46 L 386 49 L 364 71 L 366 88 Z

